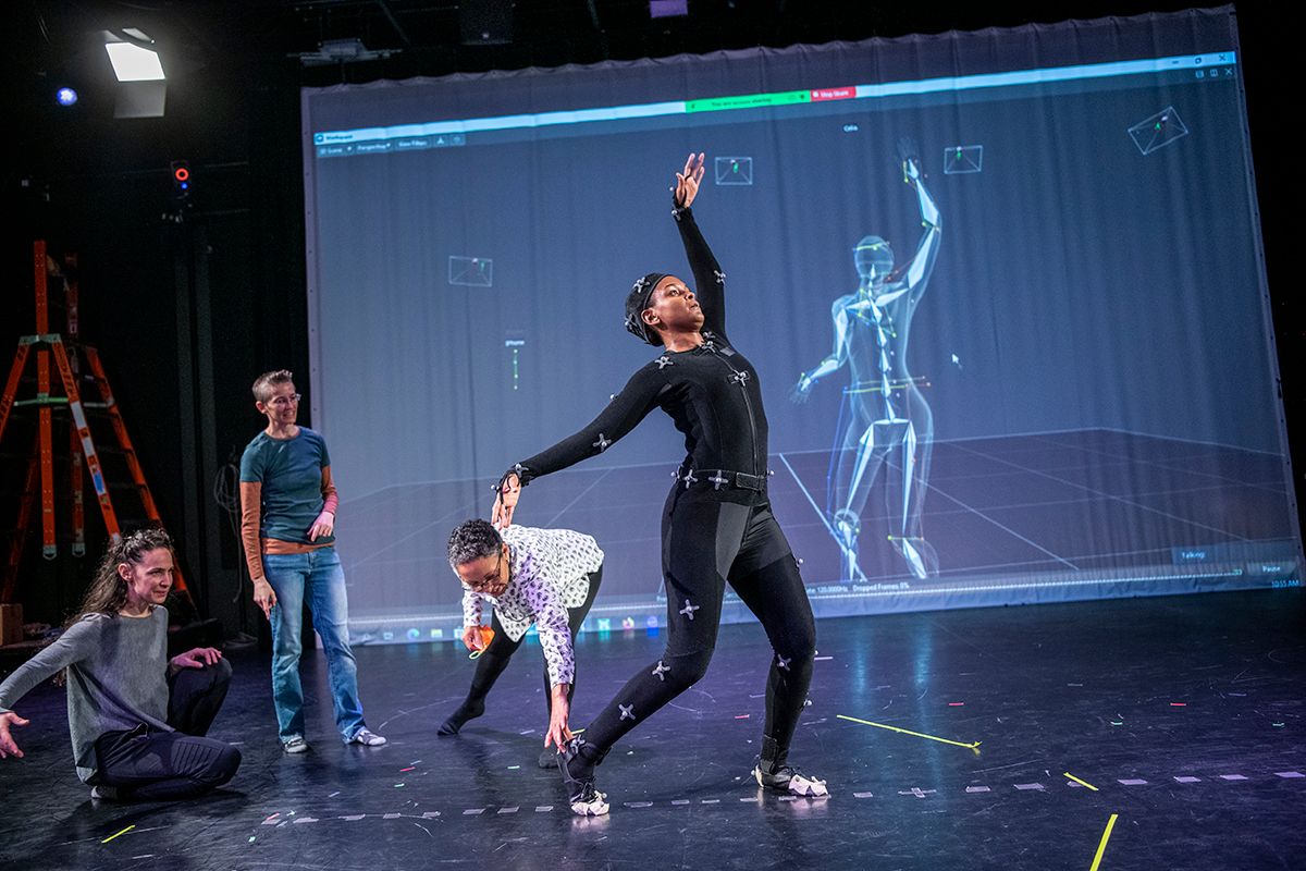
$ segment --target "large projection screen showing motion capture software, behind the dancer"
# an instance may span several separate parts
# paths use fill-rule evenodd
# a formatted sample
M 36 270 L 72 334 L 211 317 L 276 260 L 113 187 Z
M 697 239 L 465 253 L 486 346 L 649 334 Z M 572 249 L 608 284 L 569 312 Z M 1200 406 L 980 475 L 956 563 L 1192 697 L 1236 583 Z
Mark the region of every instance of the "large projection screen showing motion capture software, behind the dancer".
M 354 642 L 457 637 L 449 530 L 658 355 L 623 302 L 688 277 L 669 185 L 691 151 L 819 616 L 1299 584 L 1232 8 L 302 110 L 300 380 Z M 654 411 L 525 491 L 517 522 L 607 555 L 588 629 L 665 626 L 683 458 Z

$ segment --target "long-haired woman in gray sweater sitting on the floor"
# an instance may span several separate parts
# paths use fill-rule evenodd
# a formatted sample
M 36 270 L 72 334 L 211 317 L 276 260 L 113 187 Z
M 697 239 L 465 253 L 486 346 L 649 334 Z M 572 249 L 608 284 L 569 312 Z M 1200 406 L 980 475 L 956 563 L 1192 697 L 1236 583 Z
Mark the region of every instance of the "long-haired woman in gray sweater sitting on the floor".
M 73 759 L 91 798 L 183 799 L 231 780 L 240 751 L 204 738 L 231 666 L 213 648 L 167 659 L 172 572 L 172 542 L 161 529 L 110 545 L 81 615 L 0 683 L 0 759 L 22 756 L 10 729 L 29 721 L 12 705 L 67 669 Z

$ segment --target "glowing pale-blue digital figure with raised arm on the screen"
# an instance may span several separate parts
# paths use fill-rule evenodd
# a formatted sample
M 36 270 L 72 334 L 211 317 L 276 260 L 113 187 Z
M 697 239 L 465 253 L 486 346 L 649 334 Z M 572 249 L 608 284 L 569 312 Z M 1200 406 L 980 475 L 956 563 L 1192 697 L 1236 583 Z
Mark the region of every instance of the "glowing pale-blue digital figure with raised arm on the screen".
M 831 529 L 844 551 L 852 580 L 858 569 L 857 538 L 862 511 L 880 466 L 885 470 L 884 503 L 889 541 L 919 578 L 938 575 L 939 559 L 925 541 L 921 507 L 930 478 L 934 415 L 906 367 L 912 315 L 925 294 L 939 253 L 939 209 L 921 178 L 921 159 L 909 140 L 899 142 L 902 180 L 916 188 L 925 231 L 910 261 L 895 269 L 893 251 L 879 236 L 866 236 L 853 249 L 857 293 L 831 308 L 835 350 L 804 372 L 794 401 L 804 401 L 816 381 L 848 364 L 842 426 L 836 435 L 837 469 L 829 501 Z

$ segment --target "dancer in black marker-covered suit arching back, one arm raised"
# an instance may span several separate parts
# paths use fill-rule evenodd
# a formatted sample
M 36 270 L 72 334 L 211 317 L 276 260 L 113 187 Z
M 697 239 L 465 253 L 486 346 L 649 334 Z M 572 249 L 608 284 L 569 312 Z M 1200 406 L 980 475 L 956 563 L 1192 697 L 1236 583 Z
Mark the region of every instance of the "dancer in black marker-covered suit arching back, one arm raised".
M 602 453 L 653 409 L 666 411 L 684 434 L 687 456 L 662 512 L 666 650 L 629 679 L 584 735 L 567 743 L 559 769 L 572 811 L 581 815 L 607 812 L 607 797 L 594 787 L 594 768 L 613 744 L 707 671 L 727 582 L 774 649 L 754 777 L 768 789 L 827 795 L 824 781 L 788 763 L 811 682 L 816 631 L 798 564 L 767 496 L 767 415 L 757 373 L 726 336 L 726 277 L 690 212 L 703 179 L 703 154 L 690 155 L 675 178 L 671 214 L 697 294 L 663 273 L 635 282 L 626 300 L 626 329 L 665 351 L 635 372 L 589 426 L 508 470 L 495 500 L 494 520 L 509 524 L 522 486 Z

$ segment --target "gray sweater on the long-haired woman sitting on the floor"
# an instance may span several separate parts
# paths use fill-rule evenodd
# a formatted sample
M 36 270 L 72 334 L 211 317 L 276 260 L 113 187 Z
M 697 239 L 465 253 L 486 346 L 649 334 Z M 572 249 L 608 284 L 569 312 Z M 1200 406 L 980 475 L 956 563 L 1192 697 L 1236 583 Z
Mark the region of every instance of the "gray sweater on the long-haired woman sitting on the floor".
M 0 712 L 68 669 L 68 731 L 77 776 L 95 773 L 95 739 L 108 731 L 167 725 L 167 610 L 131 618 L 88 614 L 0 683 Z

